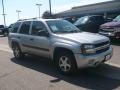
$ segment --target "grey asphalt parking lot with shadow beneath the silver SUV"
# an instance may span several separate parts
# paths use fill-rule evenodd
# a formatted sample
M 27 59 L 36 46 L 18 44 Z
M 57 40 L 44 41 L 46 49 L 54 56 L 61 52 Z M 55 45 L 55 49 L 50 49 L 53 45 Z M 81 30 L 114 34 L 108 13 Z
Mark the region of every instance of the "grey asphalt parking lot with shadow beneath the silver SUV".
M 114 55 L 104 65 L 61 75 L 46 59 L 28 56 L 16 60 L 7 37 L 0 37 L 0 90 L 119 90 L 120 46 L 112 43 Z

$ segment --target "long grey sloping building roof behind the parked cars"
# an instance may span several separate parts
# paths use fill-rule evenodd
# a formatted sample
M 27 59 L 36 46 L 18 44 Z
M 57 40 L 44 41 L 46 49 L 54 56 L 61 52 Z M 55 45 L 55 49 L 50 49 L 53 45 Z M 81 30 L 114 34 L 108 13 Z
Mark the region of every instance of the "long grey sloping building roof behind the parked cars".
M 120 14 L 120 0 L 73 7 L 70 10 L 54 14 L 54 16 L 57 18 L 62 18 L 81 17 L 93 14 L 104 15 L 105 17 L 115 17 L 116 15 Z

